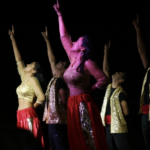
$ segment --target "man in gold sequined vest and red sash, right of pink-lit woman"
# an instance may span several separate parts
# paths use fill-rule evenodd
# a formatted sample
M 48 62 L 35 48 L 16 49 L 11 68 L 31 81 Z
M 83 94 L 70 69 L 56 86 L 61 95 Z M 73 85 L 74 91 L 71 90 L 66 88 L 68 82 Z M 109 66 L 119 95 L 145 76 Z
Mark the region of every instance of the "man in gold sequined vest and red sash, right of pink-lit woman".
M 110 80 L 108 51 L 109 44 L 104 46 L 103 71 Z M 121 84 L 125 81 L 124 72 L 116 72 L 112 75 L 112 83 L 108 85 L 102 110 L 102 123 L 106 129 L 106 139 L 109 150 L 129 150 L 127 141 L 127 122 L 126 117 L 129 114 L 127 105 L 127 96 Z

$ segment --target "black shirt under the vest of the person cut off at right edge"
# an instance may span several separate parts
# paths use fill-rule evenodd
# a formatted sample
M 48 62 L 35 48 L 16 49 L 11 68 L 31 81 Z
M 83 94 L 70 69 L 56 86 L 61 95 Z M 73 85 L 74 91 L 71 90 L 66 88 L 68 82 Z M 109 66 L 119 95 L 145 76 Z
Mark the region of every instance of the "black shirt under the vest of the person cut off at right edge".
M 150 64 L 147 65 L 145 73 L 147 72 L 147 69 L 150 67 Z M 147 81 L 145 83 L 145 88 L 144 88 L 144 104 L 143 105 L 148 105 L 150 102 L 149 99 L 149 84 L 150 84 L 150 71 L 147 74 Z

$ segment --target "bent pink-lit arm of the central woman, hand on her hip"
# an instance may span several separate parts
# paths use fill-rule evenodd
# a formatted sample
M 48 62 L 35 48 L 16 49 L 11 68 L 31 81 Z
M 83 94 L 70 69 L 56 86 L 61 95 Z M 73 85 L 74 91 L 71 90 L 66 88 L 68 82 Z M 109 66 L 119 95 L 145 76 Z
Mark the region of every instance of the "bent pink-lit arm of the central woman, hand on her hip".
M 92 76 L 94 76 L 94 78 L 97 81 L 95 86 L 99 89 L 105 88 L 106 85 L 108 84 L 108 78 L 103 73 L 103 71 L 98 67 L 98 65 L 91 60 L 87 60 L 85 62 L 85 65 L 88 68 L 89 73 Z

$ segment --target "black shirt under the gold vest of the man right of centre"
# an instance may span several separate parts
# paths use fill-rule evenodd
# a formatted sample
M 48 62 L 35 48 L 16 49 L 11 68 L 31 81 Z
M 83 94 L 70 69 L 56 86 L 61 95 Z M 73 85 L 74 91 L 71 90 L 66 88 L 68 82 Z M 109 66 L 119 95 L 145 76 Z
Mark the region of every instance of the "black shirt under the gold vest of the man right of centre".
M 113 92 L 114 92 L 115 90 L 116 90 L 116 88 L 111 88 L 111 94 L 110 94 L 110 97 L 112 96 L 112 94 L 113 94 Z M 109 97 L 109 101 L 108 101 L 108 104 L 107 104 L 105 116 L 111 114 L 110 97 Z M 127 101 L 127 97 L 126 97 L 126 95 L 125 95 L 123 92 L 121 92 L 121 93 L 119 94 L 119 101 L 120 101 L 120 103 L 121 103 L 122 100 Z M 122 107 L 121 107 L 121 108 L 122 108 Z

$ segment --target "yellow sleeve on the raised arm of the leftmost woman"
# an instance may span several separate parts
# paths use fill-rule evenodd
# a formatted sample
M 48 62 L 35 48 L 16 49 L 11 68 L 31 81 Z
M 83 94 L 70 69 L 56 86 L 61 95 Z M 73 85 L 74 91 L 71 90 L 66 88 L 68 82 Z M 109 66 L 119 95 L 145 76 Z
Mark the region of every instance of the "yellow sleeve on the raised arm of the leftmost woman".
M 24 72 L 24 69 L 25 69 L 25 65 L 24 65 L 24 62 L 23 61 L 20 61 L 20 62 L 17 62 L 17 69 L 18 69 L 18 73 L 21 77 L 21 81 L 24 80 L 25 78 L 25 72 Z

